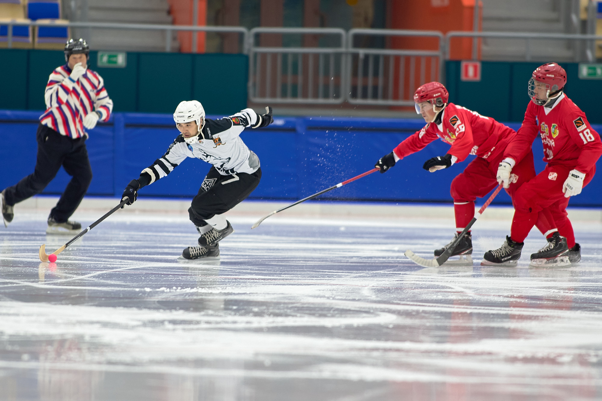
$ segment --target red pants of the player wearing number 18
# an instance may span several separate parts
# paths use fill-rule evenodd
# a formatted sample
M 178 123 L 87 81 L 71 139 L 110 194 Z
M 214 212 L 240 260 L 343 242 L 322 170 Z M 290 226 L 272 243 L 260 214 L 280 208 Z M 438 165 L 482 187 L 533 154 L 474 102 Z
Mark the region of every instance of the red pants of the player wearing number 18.
M 538 213 L 549 210 L 559 234 L 566 237 L 568 247 L 575 246 L 573 225 L 566 217 L 566 206 L 570 198 L 562 193 L 562 187 L 571 170 L 573 167 L 570 166 L 548 164 L 544 171 L 518 189 L 513 201 L 514 219 L 510 230 L 512 240 L 523 242 L 538 220 Z M 592 181 L 594 174 L 595 167 L 585 173 L 584 188 Z

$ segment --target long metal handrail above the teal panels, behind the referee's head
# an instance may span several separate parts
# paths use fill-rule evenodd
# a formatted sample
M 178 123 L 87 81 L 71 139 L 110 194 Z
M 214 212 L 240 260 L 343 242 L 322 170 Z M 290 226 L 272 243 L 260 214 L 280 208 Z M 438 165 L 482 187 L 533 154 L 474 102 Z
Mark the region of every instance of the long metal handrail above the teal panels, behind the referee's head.
M 241 53 L 247 54 L 249 49 L 249 31 L 243 26 L 192 26 L 192 25 L 160 25 L 150 23 L 113 23 L 113 22 L 17 22 L 7 21 L 1 25 L 8 25 L 7 29 L 7 47 L 13 47 L 13 26 L 48 26 L 52 28 L 101 28 L 114 30 L 149 30 L 149 31 L 165 31 L 165 51 L 172 51 L 172 33 L 179 31 L 189 32 L 215 32 L 215 33 L 238 33 L 243 36 L 243 46 Z M 195 51 L 196 52 L 196 49 Z

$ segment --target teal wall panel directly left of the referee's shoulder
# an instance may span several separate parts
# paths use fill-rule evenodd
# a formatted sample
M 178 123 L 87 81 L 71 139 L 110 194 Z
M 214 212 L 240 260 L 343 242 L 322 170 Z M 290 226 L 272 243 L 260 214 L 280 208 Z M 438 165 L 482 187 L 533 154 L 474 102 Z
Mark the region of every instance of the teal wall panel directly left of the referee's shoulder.
M 65 54 L 55 50 L 23 50 L 29 52 L 27 109 L 46 110 L 44 90 L 52 71 L 65 64 Z M 25 84 L 25 82 L 23 82 Z

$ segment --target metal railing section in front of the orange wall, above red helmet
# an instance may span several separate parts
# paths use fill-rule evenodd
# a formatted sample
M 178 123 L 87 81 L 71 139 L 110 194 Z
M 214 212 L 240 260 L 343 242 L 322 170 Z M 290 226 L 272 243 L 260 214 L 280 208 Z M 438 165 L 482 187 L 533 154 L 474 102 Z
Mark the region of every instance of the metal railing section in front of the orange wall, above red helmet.
M 436 50 L 355 47 L 358 36 L 431 37 Z M 351 104 L 413 105 L 414 91 L 441 81 L 443 35 L 438 31 L 352 29 L 347 36 L 347 101 Z M 408 71 L 406 79 L 406 70 Z

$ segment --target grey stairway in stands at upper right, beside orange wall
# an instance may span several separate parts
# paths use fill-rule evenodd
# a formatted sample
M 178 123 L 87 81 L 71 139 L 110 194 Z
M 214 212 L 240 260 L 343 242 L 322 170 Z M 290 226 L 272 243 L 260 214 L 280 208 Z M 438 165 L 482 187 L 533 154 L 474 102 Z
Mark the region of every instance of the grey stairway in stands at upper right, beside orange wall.
M 482 0 L 483 31 L 575 33 L 570 0 Z M 531 40 L 532 61 L 573 61 L 566 40 Z M 526 60 L 524 39 L 484 39 L 483 60 Z

